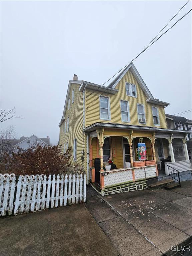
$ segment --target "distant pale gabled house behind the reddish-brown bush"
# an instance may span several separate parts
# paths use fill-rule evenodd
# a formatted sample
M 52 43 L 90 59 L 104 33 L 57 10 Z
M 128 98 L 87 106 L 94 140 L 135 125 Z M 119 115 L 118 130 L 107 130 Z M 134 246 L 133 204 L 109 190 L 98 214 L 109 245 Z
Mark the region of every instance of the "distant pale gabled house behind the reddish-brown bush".
M 17 144 L 15 144 L 13 147 L 15 148 L 19 147 L 20 149 L 28 149 L 29 147 L 31 147 L 31 145 L 34 145 L 37 143 L 42 145 L 43 147 L 49 145 L 50 144 L 49 136 L 47 136 L 47 138 L 39 138 L 35 134 L 31 135 L 30 137 L 22 136 L 20 138 L 20 141 Z

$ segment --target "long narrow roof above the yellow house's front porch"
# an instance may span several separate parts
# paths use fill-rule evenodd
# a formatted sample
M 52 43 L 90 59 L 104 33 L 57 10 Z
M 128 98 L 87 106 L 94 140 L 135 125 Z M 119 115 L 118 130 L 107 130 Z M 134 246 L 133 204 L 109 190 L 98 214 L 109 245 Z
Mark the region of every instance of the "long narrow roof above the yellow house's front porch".
M 99 127 L 127 129 L 127 130 L 139 130 L 139 131 L 159 131 L 159 132 L 166 132 L 166 133 L 170 132 L 170 133 L 180 133 L 180 134 L 187 134 L 190 132 L 190 131 L 183 131 L 183 130 L 164 129 L 164 128 L 158 128 L 158 127 L 127 125 L 127 124 L 117 124 L 117 123 L 94 123 L 92 125 L 85 127 L 84 131 L 92 132 Z

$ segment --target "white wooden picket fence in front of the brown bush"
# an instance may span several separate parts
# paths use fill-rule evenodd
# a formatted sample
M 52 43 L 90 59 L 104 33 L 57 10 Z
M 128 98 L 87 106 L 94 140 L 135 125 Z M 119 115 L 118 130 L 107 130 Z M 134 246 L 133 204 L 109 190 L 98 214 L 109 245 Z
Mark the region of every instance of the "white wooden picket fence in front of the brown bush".
M 21 214 L 86 201 L 86 175 L 0 174 L 0 216 Z

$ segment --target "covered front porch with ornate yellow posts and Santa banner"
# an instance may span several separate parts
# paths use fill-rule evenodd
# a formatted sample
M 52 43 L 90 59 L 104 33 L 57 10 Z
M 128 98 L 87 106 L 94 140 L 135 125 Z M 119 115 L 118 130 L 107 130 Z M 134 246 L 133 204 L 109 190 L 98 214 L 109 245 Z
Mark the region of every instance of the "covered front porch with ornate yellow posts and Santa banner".
M 157 164 L 162 158 L 170 157 L 171 163 L 175 162 L 176 148 L 172 144 L 174 136 L 172 132 L 165 134 L 164 130 L 167 129 L 158 132 L 157 128 L 130 129 L 128 125 L 125 128 L 96 126 L 95 129 L 93 127 L 91 129 L 89 133 L 88 129 L 86 131 L 90 152 L 89 176 L 90 182 L 102 195 L 145 189 L 148 179 L 158 177 Z M 181 137 L 184 139 L 185 134 Z M 162 156 L 159 139 L 162 139 Z M 138 143 L 146 145 L 146 156 L 143 159 L 138 153 Z M 183 149 L 185 152 L 185 145 Z M 188 153 L 186 158 L 187 156 Z M 112 158 L 116 168 L 107 171 L 105 165 L 108 164 L 109 158 Z M 130 163 L 130 166 L 127 163 Z

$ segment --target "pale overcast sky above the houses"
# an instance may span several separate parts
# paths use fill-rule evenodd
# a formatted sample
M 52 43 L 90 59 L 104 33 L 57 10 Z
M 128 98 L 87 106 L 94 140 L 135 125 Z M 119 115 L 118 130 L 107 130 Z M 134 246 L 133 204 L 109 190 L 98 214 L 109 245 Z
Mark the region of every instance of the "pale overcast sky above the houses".
M 59 139 L 68 81 L 104 83 L 133 59 L 186 1 L 1 1 L 1 107 L 23 119 L 18 137 Z M 191 8 L 191 1 L 171 25 Z M 169 27 L 169 26 L 168 26 Z M 135 62 L 155 98 L 191 109 L 191 13 Z M 191 118 L 191 112 L 184 115 Z

